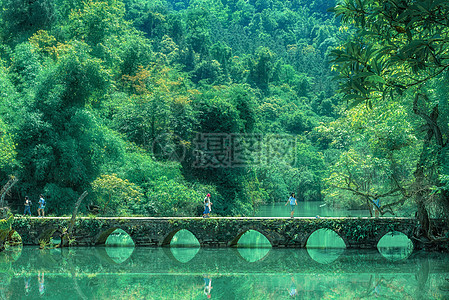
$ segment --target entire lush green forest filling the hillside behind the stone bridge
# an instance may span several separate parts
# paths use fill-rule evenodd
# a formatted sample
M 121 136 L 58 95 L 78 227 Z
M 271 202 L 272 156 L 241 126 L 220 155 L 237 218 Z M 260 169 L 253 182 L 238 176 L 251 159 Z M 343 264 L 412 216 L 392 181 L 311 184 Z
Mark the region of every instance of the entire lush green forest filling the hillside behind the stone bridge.
M 211 193 L 251 215 L 295 192 L 442 215 L 448 4 L 422 2 L 1 0 L 6 200 L 182 216 Z

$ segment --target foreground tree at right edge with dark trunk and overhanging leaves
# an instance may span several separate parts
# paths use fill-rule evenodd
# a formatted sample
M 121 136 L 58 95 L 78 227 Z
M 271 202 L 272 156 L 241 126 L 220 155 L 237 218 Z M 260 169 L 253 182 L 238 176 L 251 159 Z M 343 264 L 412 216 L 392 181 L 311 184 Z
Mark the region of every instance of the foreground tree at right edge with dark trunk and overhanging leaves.
M 414 191 L 423 233 L 429 236 L 432 199 L 449 217 L 449 191 L 432 195 L 432 189 L 441 188 L 439 175 L 448 163 L 448 132 L 440 116 L 449 112 L 441 111 L 447 108 L 439 105 L 442 99 L 431 96 L 449 68 L 449 2 L 344 0 L 334 11 L 354 26 L 352 38 L 332 51 L 344 99 L 351 106 L 372 107 L 404 97 L 426 128 L 424 135 L 416 134 L 422 148 L 408 190 Z

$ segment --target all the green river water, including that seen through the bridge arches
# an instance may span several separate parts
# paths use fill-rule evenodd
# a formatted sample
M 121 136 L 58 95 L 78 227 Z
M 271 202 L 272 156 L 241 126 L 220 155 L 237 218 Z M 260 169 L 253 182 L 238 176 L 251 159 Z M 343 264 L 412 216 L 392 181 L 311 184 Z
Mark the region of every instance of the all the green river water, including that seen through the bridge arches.
M 282 205 L 259 215 L 289 214 Z M 326 216 L 318 208 L 297 216 Z M 413 252 L 396 232 L 377 250 L 345 249 L 326 230 L 305 249 L 272 249 L 255 231 L 238 246 L 199 248 L 182 230 L 171 247 L 135 248 L 117 230 L 104 247 L 10 248 L 0 253 L 0 299 L 449 299 L 449 255 Z

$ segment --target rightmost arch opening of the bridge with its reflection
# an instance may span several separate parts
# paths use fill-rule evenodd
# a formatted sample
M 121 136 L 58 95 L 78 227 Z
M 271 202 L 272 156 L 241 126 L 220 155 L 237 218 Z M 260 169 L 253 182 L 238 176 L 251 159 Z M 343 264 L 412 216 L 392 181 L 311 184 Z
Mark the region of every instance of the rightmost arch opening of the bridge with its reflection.
M 410 256 L 413 252 L 413 243 L 402 232 L 392 231 L 379 240 L 377 249 L 386 259 L 398 261 Z

